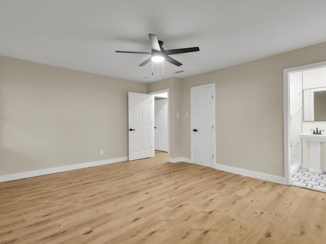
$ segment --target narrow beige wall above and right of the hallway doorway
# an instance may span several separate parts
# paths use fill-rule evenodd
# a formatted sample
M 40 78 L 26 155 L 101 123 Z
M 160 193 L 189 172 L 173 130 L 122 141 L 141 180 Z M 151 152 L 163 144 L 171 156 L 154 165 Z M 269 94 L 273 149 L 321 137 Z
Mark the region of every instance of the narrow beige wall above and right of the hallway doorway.
M 169 78 L 148 84 L 149 92 L 170 89 L 170 158 L 181 157 L 181 79 Z

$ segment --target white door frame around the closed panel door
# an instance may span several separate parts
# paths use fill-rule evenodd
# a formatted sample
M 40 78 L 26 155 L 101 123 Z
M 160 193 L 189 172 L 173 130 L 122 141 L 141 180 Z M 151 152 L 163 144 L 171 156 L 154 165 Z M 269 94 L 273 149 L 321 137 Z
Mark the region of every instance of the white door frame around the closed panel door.
M 216 89 L 215 89 L 215 83 L 210 83 L 210 84 L 205 84 L 205 85 L 198 85 L 198 86 L 193 86 L 191 87 L 191 94 L 192 94 L 192 90 L 193 89 L 197 89 L 197 88 L 204 88 L 204 87 L 213 87 L 213 168 L 216 169 L 216 125 L 215 125 L 215 103 L 216 103 Z M 193 116 L 192 116 L 192 112 L 194 109 L 194 105 L 193 105 L 194 101 L 193 98 L 191 96 L 190 99 L 190 110 L 191 110 L 191 162 L 194 164 L 194 136 L 192 133 L 192 130 L 194 128 L 194 121 L 193 121 Z

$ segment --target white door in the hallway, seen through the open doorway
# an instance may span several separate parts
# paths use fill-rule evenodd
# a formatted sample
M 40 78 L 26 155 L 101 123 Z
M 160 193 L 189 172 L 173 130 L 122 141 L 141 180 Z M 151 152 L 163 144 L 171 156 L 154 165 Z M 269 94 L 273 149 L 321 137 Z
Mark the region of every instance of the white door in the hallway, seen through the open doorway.
M 155 100 L 155 150 L 168 151 L 168 99 Z

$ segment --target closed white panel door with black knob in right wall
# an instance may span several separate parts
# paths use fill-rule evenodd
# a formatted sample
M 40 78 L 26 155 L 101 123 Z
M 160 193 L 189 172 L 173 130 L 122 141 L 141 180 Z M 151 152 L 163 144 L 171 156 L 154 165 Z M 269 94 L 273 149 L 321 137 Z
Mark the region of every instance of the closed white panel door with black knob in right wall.
M 215 133 L 214 84 L 191 88 L 193 163 L 214 167 Z

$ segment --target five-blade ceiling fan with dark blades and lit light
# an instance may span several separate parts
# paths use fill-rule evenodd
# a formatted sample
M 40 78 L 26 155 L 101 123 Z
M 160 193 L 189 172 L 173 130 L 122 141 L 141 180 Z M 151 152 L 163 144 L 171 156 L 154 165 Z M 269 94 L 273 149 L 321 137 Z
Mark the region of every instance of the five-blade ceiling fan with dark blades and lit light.
M 144 66 L 147 63 L 149 63 L 151 60 L 153 62 L 162 62 L 163 60 L 166 60 L 167 62 L 169 62 L 173 65 L 181 66 L 182 64 L 180 62 L 178 62 L 177 60 L 175 60 L 174 58 L 172 58 L 168 55 L 199 51 L 199 47 L 188 47 L 188 48 L 164 50 L 164 48 L 162 47 L 163 42 L 158 41 L 156 35 L 152 35 L 152 34 L 148 34 L 148 35 L 149 35 L 149 40 L 150 40 L 151 46 L 152 46 L 151 52 L 129 52 L 129 51 L 116 51 L 116 52 L 150 54 L 151 56 L 149 58 L 147 58 L 139 66 Z

